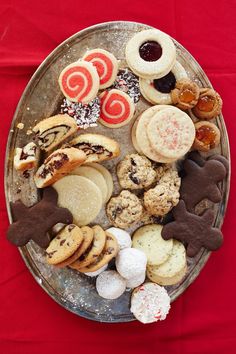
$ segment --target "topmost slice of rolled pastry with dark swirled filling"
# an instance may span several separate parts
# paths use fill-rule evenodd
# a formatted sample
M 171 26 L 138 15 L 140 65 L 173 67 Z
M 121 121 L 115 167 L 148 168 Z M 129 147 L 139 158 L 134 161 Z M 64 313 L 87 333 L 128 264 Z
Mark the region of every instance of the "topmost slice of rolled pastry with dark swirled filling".
M 38 146 L 45 151 L 52 150 L 76 131 L 75 120 L 67 114 L 43 119 L 33 128 Z

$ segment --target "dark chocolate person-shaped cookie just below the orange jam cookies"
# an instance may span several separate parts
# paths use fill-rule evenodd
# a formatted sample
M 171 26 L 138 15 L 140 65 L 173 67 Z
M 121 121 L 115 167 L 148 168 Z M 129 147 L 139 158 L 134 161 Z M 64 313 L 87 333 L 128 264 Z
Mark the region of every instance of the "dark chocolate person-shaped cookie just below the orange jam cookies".
M 193 160 L 185 160 L 184 171 L 180 187 L 180 198 L 184 200 L 187 210 L 194 212 L 195 206 L 207 198 L 213 203 L 219 203 L 222 198 L 218 183 L 222 181 L 227 171 L 224 165 L 217 160 L 207 160 L 199 166 Z

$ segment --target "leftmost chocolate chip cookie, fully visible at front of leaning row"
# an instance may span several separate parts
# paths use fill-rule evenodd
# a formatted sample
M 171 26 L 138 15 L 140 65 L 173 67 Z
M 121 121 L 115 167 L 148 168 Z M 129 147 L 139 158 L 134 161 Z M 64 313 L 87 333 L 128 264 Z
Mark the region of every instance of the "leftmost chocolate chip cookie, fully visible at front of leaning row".
M 46 249 L 46 260 L 49 264 L 63 262 L 70 257 L 83 242 L 80 228 L 74 224 L 67 225 L 49 244 Z

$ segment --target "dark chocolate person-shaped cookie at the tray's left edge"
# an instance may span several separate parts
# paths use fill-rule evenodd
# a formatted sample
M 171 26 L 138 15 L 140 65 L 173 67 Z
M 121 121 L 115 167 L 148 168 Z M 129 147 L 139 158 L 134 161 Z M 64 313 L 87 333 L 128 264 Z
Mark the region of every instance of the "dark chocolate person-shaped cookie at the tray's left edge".
M 21 247 L 33 240 L 42 248 L 50 243 L 48 231 L 57 223 L 71 224 L 72 214 L 65 208 L 57 207 L 58 195 L 54 188 L 44 189 L 43 198 L 30 208 L 21 200 L 11 203 L 13 224 L 7 231 L 7 238 L 14 245 Z

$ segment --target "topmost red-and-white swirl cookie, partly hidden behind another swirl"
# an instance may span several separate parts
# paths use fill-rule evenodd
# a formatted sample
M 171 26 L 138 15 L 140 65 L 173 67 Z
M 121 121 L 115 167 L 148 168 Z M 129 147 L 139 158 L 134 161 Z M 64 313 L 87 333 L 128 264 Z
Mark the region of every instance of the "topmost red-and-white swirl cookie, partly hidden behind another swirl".
M 91 62 L 97 69 L 100 89 L 113 84 L 118 73 L 118 61 L 114 55 L 104 49 L 93 49 L 85 53 L 83 60 Z

